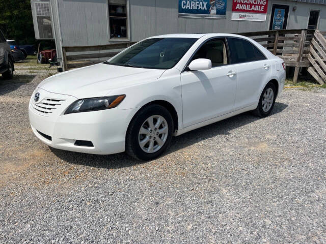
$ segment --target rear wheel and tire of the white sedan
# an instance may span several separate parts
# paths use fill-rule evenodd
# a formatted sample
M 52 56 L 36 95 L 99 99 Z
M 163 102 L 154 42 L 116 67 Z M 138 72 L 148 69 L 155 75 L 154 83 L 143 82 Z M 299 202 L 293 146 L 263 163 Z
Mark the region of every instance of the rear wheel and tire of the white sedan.
M 273 94 L 273 98 L 271 98 Z M 266 117 L 274 108 L 277 90 L 272 82 L 268 82 L 260 95 L 258 106 L 253 113 L 259 117 Z

